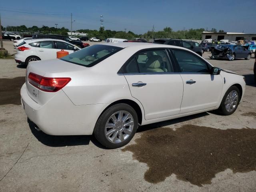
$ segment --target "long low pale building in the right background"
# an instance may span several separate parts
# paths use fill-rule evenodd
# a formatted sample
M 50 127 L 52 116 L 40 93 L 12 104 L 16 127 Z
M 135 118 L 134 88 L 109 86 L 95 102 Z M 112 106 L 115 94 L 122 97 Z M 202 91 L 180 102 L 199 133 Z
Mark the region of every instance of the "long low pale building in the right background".
M 246 34 L 246 33 L 232 33 L 232 32 L 202 32 L 202 41 L 205 39 L 212 40 L 222 40 L 228 39 L 228 41 L 238 41 L 238 40 L 256 40 L 256 34 Z

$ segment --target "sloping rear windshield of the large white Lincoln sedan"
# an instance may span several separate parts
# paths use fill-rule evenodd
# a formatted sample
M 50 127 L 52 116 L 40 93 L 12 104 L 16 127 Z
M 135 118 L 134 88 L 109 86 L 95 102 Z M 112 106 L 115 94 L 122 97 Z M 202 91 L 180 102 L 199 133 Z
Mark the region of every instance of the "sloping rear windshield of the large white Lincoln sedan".
M 108 45 L 92 45 L 60 58 L 61 60 L 91 67 L 123 48 Z

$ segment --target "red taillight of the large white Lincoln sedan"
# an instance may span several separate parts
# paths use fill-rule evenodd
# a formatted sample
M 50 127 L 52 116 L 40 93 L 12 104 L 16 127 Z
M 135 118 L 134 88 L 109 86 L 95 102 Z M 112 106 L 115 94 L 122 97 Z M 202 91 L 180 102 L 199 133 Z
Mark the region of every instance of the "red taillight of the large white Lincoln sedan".
M 30 84 L 46 92 L 57 92 L 66 86 L 70 80 L 71 78 L 69 77 L 43 77 L 34 73 L 28 75 L 28 82 Z

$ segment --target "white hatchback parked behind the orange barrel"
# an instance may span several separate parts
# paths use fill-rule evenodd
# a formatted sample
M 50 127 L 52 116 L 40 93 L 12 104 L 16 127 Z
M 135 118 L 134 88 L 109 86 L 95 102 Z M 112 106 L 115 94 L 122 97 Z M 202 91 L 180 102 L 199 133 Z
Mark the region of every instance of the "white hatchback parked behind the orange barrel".
M 67 51 L 69 54 L 79 47 L 59 39 L 29 39 L 24 40 L 17 47 L 15 61 L 28 65 L 31 61 L 49 60 L 57 57 L 57 51 Z

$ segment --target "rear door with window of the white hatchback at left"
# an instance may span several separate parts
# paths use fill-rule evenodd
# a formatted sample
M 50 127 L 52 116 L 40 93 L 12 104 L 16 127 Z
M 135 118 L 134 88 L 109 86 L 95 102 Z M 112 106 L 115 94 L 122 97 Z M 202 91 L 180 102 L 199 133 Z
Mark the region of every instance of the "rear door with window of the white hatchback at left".
M 57 58 L 57 50 L 54 41 L 41 41 L 35 49 L 41 60 Z

